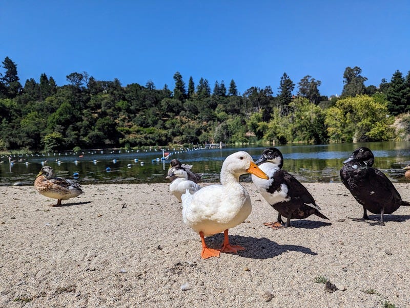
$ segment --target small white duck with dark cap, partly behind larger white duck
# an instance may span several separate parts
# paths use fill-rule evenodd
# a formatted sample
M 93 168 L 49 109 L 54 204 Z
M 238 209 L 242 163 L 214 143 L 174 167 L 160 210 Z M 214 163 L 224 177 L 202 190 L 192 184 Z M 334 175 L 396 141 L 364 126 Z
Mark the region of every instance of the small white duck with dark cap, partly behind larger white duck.
M 188 180 L 188 173 L 183 167 L 171 167 L 168 170 L 166 179 L 172 179 L 170 184 L 171 193 L 182 202 L 181 195 L 189 190 L 191 194 L 198 191 L 201 187 L 193 181 Z

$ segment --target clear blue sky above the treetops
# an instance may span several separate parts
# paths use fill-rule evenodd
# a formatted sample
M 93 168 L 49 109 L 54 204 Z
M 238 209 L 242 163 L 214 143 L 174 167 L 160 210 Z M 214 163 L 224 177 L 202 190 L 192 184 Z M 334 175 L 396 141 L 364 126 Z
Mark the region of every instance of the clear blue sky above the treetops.
M 173 90 L 179 71 L 186 84 L 234 79 L 240 93 L 270 85 L 276 95 L 286 72 L 296 84 L 311 75 L 330 96 L 346 67 L 360 67 L 366 85 L 407 74 L 410 1 L 0 0 L 6 56 L 23 85 L 42 73 L 64 85 L 86 71 Z

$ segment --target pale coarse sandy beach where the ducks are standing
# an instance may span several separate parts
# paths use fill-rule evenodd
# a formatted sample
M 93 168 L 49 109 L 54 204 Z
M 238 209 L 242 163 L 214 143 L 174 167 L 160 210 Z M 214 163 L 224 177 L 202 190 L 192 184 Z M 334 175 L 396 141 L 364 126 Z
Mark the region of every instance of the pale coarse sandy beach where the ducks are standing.
M 362 208 L 342 184 L 305 183 L 331 220 L 273 230 L 262 223 L 277 212 L 242 184 L 253 210 L 230 241 L 246 250 L 206 260 L 166 183 L 85 185 L 60 207 L 32 186 L 0 187 L 0 306 L 410 305 L 410 207 L 371 226 L 348 218 Z M 395 186 L 410 201 L 410 184 Z M 219 248 L 222 239 L 206 240 Z M 320 276 L 345 291 L 327 292 Z

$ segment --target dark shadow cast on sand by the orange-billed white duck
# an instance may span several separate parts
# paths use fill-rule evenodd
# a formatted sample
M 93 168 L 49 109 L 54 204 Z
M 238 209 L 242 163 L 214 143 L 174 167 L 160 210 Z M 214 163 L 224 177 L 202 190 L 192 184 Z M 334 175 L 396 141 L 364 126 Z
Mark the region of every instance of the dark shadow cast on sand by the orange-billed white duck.
M 212 240 L 210 240 L 212 238 Z M 220 249 L 223 242 L 223 233 L 215 234 L 211 238 L 206 238 L 207 245 L 210 248 Z M 269 238 L 256 238 L 253 236 L 230 235 L 229 242 L 231 245 L 240 245 L 245 248 L 238 252 L 238 255 L 244 258 L 252 259 L 270 259 L 290 251 L 298 251 L 304 254 L 316 256 L 317 253 L 310 248 L 299 245 L 279 245 Z

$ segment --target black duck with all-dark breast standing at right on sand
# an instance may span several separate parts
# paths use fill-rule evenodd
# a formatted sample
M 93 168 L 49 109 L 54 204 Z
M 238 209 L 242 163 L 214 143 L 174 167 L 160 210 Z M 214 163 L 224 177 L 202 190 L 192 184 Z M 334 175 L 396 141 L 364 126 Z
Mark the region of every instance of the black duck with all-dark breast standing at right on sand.
M 380 220 L 371 225 L 384 226 L 384 214 L 393 213 L 401 205 L 410 206 L 410 203 L 402 201 L 399 192 L 386 175 L 372 167 L 374 161 L 375 157 L 369 148 L 359 147 L 343 162 L 340 179 L 356 201 L 363 206 L 363 218 L 353 220 L 368 219 L 368 210 L 380 214 Z

